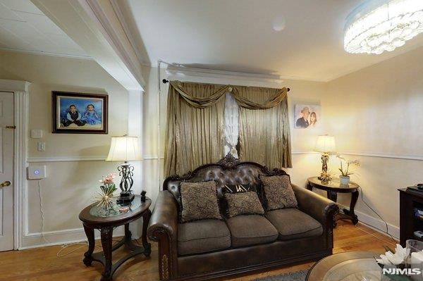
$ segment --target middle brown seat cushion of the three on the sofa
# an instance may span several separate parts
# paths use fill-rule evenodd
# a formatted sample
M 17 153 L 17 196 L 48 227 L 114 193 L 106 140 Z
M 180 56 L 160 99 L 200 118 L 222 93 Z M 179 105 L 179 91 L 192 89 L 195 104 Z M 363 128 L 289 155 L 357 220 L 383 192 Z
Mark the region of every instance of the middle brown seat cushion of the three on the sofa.
M 231 231 L 233 247 L 264 244 L 278 238 L 278 230 L 264 216 L 235 216 L 226 223 Z

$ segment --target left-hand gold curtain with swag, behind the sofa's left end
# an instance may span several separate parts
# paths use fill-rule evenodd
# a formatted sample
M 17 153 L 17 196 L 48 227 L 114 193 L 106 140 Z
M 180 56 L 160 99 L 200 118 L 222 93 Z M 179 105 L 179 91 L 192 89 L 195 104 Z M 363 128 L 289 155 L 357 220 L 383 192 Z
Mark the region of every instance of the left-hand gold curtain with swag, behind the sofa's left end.
M 175 87 L 173 87 L 175 86 Z M 183 175 L 223 157 L 224 93 L 220 85 L 171 82 L 164 173 Z M 181 93 L 182 92 L 182 93 Z

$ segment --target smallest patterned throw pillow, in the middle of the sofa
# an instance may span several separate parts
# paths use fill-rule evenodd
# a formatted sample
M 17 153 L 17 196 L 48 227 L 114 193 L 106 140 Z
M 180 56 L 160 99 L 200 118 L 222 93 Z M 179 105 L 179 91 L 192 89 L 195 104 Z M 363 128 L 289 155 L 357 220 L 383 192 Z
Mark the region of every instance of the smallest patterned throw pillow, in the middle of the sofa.
M 226 193 L 225 199 L 228 202 L 229 218 L 238 215 L 264 214 L 262 202 L 255 192 Z

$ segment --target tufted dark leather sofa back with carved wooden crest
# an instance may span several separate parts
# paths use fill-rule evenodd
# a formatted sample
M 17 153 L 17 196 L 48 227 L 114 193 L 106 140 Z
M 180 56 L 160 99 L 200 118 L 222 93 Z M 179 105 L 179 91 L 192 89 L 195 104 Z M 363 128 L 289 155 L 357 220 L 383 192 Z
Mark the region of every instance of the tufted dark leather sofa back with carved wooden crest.
M 222 187 L 230 184 L 259 184 L 259 175 L 287 175 L 283 170 L 269 170 L 255 162 L 240 162 L 231 156 L 226 156 L 215 164 L 200 166 L 182 177 L 173 175 L 164 180 L 163 189 L 168 190 L 179 201 L 180 182 L 207 182 L 214 180 L 218 196 L 222 196 Z

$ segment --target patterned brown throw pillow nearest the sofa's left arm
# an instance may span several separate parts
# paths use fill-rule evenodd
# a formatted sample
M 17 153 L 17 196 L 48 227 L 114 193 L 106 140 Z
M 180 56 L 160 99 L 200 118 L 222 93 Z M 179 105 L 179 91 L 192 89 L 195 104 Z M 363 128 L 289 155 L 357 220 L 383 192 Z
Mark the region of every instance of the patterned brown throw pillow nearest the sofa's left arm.
M 182 182 L 180 184 L 180 200 L 182 201 L 181 221 L 206 218 L 221 219 L 217 204 L 216 182 Z

